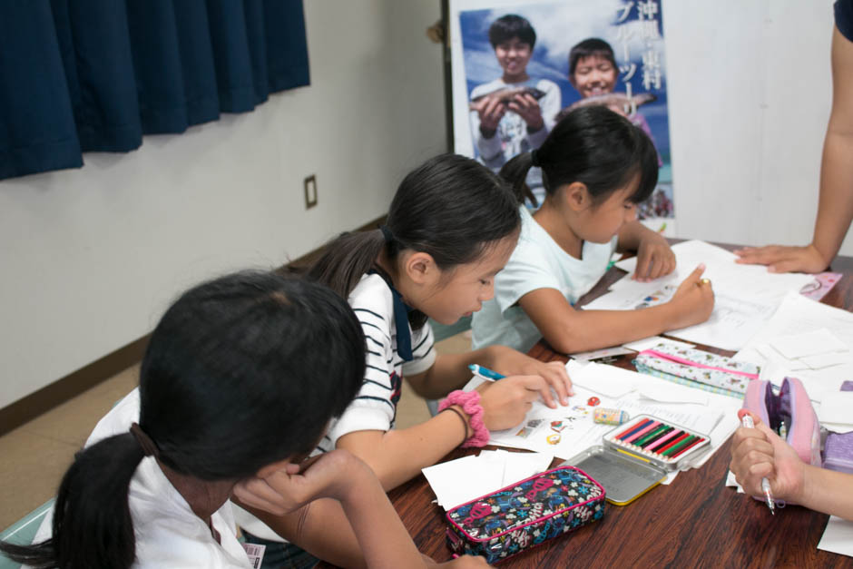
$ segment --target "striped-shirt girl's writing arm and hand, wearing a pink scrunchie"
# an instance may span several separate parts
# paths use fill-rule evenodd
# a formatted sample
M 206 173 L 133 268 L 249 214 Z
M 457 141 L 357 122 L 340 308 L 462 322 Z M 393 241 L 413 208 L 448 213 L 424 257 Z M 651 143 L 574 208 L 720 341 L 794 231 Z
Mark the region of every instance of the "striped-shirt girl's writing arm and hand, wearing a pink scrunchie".
M 540 397 L 551 407 L 555 405 L 551 389 L 539 376 L 504 378 L 477 390 L 484 410 L 483 422 L 489 430 L 515 427 Z M 456 413 L 446 411 L 414 427 L 353 431 L 338 438 L 337 447 L 368 463 L 382 486 L 390 490 L 420 474 L 422 468 L 436 464 L 473 434 L 462 408 L 451 408 L 458 411 L 465 424 Z

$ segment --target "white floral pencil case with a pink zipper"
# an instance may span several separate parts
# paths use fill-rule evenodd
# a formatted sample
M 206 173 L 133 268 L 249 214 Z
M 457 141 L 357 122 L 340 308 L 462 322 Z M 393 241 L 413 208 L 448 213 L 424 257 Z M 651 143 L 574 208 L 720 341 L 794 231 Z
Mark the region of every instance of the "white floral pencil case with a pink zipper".
M 666 344 L 643 350 L 633 363 L 641 373 L 738 398 L 743 398 L 750 381 L 760 372 L 755 364 Z

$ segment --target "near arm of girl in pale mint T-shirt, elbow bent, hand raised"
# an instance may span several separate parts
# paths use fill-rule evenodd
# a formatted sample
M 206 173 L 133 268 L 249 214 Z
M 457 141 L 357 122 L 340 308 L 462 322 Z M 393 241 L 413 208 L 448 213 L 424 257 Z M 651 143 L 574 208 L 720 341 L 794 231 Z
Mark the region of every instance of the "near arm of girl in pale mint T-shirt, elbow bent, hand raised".
M 564 354 L 618 346 L 704 322 L 714 308 L 704 266 L 681 282 L 669 302 L 639 310 L 577 310 L 557 289 L 535 289 L 518 304 L 551 346 Z

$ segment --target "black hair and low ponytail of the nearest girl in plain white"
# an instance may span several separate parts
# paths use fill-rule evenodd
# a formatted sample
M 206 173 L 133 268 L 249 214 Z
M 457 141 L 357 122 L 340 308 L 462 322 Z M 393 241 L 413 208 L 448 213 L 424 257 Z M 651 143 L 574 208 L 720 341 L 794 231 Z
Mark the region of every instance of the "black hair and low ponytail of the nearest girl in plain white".
M 191 289 L 166 311 L 142 359 L 142 434 L 84 448 L 59 488 L 52 538 L 0 542 L 0 551 L 35 567 L 130 567 L 128 490 L 142 444 L 202 481 L 252 476 L 313 450 L 358 393 L 364 369 L 358 319 L 326 287 L 244 272 Z

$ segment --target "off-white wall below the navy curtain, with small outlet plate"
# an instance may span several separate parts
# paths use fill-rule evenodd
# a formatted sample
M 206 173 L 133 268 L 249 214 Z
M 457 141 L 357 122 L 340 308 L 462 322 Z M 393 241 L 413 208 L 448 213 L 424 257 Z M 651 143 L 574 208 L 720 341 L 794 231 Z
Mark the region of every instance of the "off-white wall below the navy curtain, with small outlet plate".
M 81 170 L 0 182 L 0 407 L 148 333 L 181 289 L 387 211 L 446 150 L 438 2 L 305 2 L 311 85 Z M 302 179 L 317 174 L 305 211 Z

